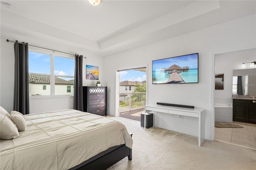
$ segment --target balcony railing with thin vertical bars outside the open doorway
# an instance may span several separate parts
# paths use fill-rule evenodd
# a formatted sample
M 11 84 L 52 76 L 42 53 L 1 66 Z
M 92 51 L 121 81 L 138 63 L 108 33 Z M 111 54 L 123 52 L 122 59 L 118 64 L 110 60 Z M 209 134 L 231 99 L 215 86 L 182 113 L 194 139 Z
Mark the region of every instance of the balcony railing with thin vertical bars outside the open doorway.
M 120 93 L 119 111 L 126 111 L 144 107 L 146 105 L 146 92 Z

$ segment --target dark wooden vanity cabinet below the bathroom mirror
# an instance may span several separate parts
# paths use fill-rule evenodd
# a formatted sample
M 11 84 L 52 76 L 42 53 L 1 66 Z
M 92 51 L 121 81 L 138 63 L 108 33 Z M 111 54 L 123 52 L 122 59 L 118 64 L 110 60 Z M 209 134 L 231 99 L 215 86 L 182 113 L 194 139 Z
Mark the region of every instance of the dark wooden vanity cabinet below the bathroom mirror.
M 256 100 L 233 99 L 233 121 L 256 124 Z

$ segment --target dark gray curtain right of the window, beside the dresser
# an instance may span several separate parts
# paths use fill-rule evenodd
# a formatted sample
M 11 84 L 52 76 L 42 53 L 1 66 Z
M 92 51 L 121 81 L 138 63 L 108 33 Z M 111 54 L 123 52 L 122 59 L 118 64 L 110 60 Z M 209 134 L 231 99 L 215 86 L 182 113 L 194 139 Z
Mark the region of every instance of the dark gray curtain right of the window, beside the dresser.
M 74 80 L 74 109 L 83 111 L 83 74 L 82 74 L 83 56 L 75 55 L 75 80 Z

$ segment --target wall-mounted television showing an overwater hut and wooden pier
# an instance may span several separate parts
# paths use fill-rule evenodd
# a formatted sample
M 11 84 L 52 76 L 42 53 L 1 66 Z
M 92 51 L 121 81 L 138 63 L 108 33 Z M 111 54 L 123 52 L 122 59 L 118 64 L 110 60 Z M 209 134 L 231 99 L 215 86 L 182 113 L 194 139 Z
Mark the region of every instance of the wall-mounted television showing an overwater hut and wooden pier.
M 152 61 L 152 83 L 198 83 L 198 53 Z

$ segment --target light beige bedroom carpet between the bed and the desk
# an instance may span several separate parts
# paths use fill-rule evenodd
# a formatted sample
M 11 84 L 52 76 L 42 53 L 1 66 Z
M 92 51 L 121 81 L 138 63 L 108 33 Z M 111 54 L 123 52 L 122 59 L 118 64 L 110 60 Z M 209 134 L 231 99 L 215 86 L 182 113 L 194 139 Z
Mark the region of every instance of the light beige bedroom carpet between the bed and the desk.
M 109 116 L 108 116 L 109 117 Z M 132 132 L 132 160 L 124 158 L 108 170 L 255 170 L 256 150 L 220 141 L 205 140 L 140 122 L 109 117 Z

